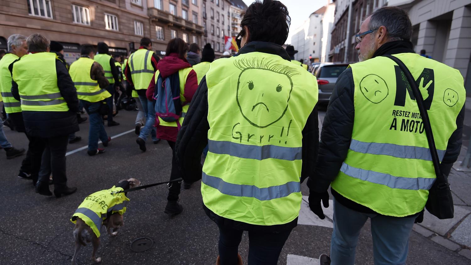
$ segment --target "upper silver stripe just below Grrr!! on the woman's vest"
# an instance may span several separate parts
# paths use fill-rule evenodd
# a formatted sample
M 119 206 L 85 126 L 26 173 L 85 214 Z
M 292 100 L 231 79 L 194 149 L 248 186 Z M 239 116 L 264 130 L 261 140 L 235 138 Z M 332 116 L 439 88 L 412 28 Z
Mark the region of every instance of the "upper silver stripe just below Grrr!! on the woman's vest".
M 214 154 L 257 160 L 276 158 L 293 161 L 301 159 L 302 156 L 302 147 L 256 146 L 229 141 L 208 140 L 208 148 Z

